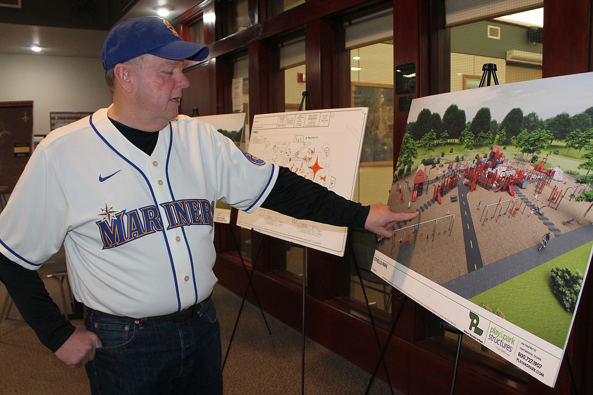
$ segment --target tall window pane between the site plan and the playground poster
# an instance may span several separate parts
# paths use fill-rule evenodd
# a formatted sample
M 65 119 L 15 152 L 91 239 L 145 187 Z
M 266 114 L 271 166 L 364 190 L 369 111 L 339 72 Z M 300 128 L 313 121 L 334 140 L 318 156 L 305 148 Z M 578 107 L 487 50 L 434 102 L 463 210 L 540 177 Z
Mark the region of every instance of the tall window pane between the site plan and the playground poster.
M 387 203 L 393 181 L 393 13 L 382 12 L 373 20 L 381 21 L 377 28 L 365 27 L 371 20 L 346 26 L 350 106 L 369 107 L 353 199 L 363 205 Z M 375 234 L 350 229 L 349 243 L 350 298 L 365 303 L 366 292 L 371 307 L 391 311 L 391 286 L 371 273 Z

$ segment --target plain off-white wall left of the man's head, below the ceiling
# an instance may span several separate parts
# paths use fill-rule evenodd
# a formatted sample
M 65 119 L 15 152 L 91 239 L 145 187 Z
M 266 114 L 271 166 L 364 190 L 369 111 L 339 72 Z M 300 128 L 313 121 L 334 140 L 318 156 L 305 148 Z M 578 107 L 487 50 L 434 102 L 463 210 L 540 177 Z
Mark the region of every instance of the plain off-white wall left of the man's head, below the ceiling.
M 111 104 L 101 58 L 0 54 L 0 101 L 33 100 L 33 133 L 50 112 L 93 112 Z

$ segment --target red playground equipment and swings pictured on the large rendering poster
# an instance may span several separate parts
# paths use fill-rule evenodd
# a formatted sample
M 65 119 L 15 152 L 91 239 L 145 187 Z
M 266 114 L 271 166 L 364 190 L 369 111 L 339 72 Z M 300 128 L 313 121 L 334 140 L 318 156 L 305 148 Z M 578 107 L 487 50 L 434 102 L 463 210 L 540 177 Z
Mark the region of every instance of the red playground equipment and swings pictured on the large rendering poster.
M 542 223 L 538 222 L 537 226 L 543 225 L 549 228 L 557 237 L 565 229 L 556 228 L 554 223 L 548 218 L 551 214 L 549 211 L 551 209 L 557 210 L 565 195 L 568 195 L 569 200 L 572 200 L 575 196 L 586 192 L 591 186 L 578 184 L 576 186 L 566 186 L 566 191 L 560 190 L 562 182 L 559 181 L 563 181 L 562 170 L 559 167 L 544 168 L 547 160 L 548 158 L 546 157 L 535 164 L 512 158 L 508 160 L 505 158 L 505 154 L 500 152 L 499 147 L 495 146 L 487 158 L 476 157 L 474 160 L 463 161 L 463 163 L 457 164 L 453 163 L 453 165 L 451 163 L 449 165 L 445 163 L 447 173 L 443 174 L 441 171 L 438 171 L 437 176 L 433 179 L 430 177 L 431 168 L 420 165 L 412 180 L 405 179 L 405 183 L 401 185 L 399 183 L 397 184 L 397 204 L 407 204 L 408 208 L 410 208 L 410 203 L 416 202 L 416 205 L 419 205 L 417 210 L 425 213 L 431 211 L 432 205 L 439 203 L 433 206 L 433 208 L 444 205 L 447 215 L 441 216 L 441 212 L 444 212 L 442 209 L 441 211 L 437 211 L 439 218 L 431 220 L 434 222 L 432 226 L 429 225 L 429 230 L 426 229 L 426 222 L 431 221 L 426 220 L 420 224 L 412 225 L 403 223 L 399 227 L 394 227 L 394 231 L 397 231 L 398 234 L 391 240 L 390 251 L 388 250 L 386 252 L 393 254 L 400 247 L 403 247 L 404 250 L 402 251 L 405 251 L 406 247 L 414 248 L 416 247 L 416 243 L 419 241 L 422 242 L 422 240 L 434 242 L 435 237 L 438 238 L 438 235 L 441 234 L 448 234 L 450 236 L 452 234 L 452 218 L 454 217 L 449 216 L 451 212 L 449 208 L 455 212 L 457 212 L 458 208 L 460 209 L 460 218 L 464 232 L 463 240 L 469 240 L 468 243 L 470 243 L 470 248 L 473 251 L 479 251 L 479 246 L 476 244 L 477 238 L 474 224 L 477 225 L 480 222 L 482 222 L 482 227 L 485 227 L 486 223 L 494 224 L 495 222 L 499 222 L 499 219 L 519 217 L 531 219 L 535 215 L 535 217 L 543 221 Z M 441 165 L 440 167 L 442 168 L 443 166 Z M 556 171 L 558 174 L 554 177 Z M 466 187 L 455 190 L 461 186 L 461 182 Z M 430 190 L 431 184 L 432 190 Z M 402 191 L 402 187 L 407 189 L 407 191 Z M 474 192 L 478 187 L 486 190 L 486 195 L 484 195 L 486 191 L 480 192 L 477 193 L 477 199 L 468 200 L 471 192 Z M 432 195 L 429 195 L 429 190 L 432 192 Z M 449 193 L 451 191 L 452 193 Z M 509 195 L 499 192 L 508 192 Z M 406 193 L 410 194 L 408 195 L 410 200 L 407 202 L 407 199 L 404 198 Z M 450 203 L 449 199 L 444 201 L 444 196 L 447 193 L 451 196 Z M 487 195 L 491 197 L 487 198 Z M 507 198 L 505 198 L 505 195 Z M 455 203 L 455 205 L 452 205 L 452 203 Z M 471 203 L 471 210 L 468 203 Z M 565 203 L 565 205 L 567 204 Z M 471 219 L 471 211 L 473 211 L 474 219 Z M 543 211 L 546 211 L 548 216 Z M 571 224 L 574 221 L 572 212 L 566 212 L 570 216 L 563 213 L 564 210 L 560 213 L 560 218 L 557 214 L 553 214 L 551 217 L 556 218 L 556 224 L 561 223 L 563 226 Z M 451 223 L 447 227 L 448 229 L 437 232 L 436 223 L 439 222 L 440 224 L 442 219 L 445 218 L 451 218 Z M 528 222 L 525 225 L 527 224 L 529 227 L 536 225 L 535 222 Z M 482 231 L 478 231 L 478 234 L 480 232 Z M 384 240 L 382 243 L 386 241 Z M 474 260 L 472 260 L 472 267 L 475 263 Z M 468 269 L 468 271 L 471 270 L 476 269 Z

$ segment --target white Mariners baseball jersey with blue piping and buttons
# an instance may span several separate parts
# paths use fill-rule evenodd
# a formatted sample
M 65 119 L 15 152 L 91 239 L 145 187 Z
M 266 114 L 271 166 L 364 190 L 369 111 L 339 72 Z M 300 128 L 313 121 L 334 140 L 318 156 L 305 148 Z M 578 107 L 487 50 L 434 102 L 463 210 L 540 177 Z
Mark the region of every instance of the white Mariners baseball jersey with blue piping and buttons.
M 187 116 L 158 133 L 148 156 L 107 109 L 50 133 L 0 215 L 0 252 L 36 269 L 64 241 L 76 299 L 104 313 L 160 316 L 208 297 L 216 200 L 253 212 L 278 167 Z

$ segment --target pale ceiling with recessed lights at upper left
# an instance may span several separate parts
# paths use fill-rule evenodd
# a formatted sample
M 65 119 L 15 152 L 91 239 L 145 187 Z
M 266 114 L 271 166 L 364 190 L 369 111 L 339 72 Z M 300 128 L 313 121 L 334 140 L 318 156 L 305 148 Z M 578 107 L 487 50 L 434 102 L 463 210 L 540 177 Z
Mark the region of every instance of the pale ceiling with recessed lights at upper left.
M 198 3 L 196 0 L 139 0 L 122 20 L 156 15 L 154 8 L 159 5 L 173 7 L 165 19 L 174 20 Z M 96 58 L 101 55 L 103 41 L 108 33 L 104 30 L 0 23 L 0 54 Z M 42 47 L 42 51 L 33 52 L 30 49 L 33 44 Z

